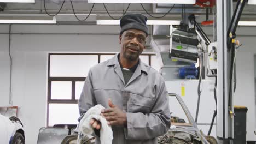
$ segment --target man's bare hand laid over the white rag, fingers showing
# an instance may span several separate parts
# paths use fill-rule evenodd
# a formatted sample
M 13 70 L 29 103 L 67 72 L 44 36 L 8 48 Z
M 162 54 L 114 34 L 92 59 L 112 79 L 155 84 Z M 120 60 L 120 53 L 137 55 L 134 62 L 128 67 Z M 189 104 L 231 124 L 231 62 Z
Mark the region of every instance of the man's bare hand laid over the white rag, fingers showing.
M 126 125 L 126 113 L 113 105 L 110 99 L 108 100 L 108 105 L 110 106 L 110 109 L 102 110 L 102 115 L 107 119 L 108 125 Z

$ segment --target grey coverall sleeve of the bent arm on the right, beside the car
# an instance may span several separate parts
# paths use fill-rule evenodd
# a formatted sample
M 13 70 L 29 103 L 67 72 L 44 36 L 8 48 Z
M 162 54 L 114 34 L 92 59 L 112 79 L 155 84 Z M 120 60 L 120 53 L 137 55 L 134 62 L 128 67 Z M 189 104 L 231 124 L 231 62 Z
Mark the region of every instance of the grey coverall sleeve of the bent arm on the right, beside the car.
M 170 128 L 168 92 L 164 81 L 156 88 L 156 100 L 151 113 L 126 113 L 126 139 L 146 140 L 164 135 Z

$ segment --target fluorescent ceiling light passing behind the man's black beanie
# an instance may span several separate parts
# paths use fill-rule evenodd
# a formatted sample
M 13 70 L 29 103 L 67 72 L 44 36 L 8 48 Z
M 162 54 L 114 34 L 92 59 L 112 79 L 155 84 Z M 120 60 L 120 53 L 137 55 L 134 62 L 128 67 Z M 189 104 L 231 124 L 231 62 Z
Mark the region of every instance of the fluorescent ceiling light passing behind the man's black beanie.
M 147 25 L 179 25 L 177 20 L 147 20 Z M 97 25 L 120 25 L 120 20 L 97 20 Z

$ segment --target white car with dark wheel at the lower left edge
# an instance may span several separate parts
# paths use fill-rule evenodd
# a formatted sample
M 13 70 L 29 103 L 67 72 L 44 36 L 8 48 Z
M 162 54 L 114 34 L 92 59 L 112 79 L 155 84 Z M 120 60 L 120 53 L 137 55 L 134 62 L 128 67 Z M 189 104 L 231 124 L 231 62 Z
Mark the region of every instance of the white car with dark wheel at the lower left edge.
M 0 143 L 24 144 L 23 124 L 18 117 L 6 117 L 0 114 Z

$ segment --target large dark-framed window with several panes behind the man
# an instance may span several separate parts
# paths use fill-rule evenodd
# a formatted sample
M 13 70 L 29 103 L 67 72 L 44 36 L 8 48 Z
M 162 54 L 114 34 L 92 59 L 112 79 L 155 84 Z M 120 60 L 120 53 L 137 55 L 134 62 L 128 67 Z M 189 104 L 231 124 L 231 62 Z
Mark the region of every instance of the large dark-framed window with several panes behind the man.
M 49 53 L 47 125 L 77 124 L 78 99 L 89 69 L 115 53 Z M 154 54 L 142 54 L 141 61 L 160 68 Z

